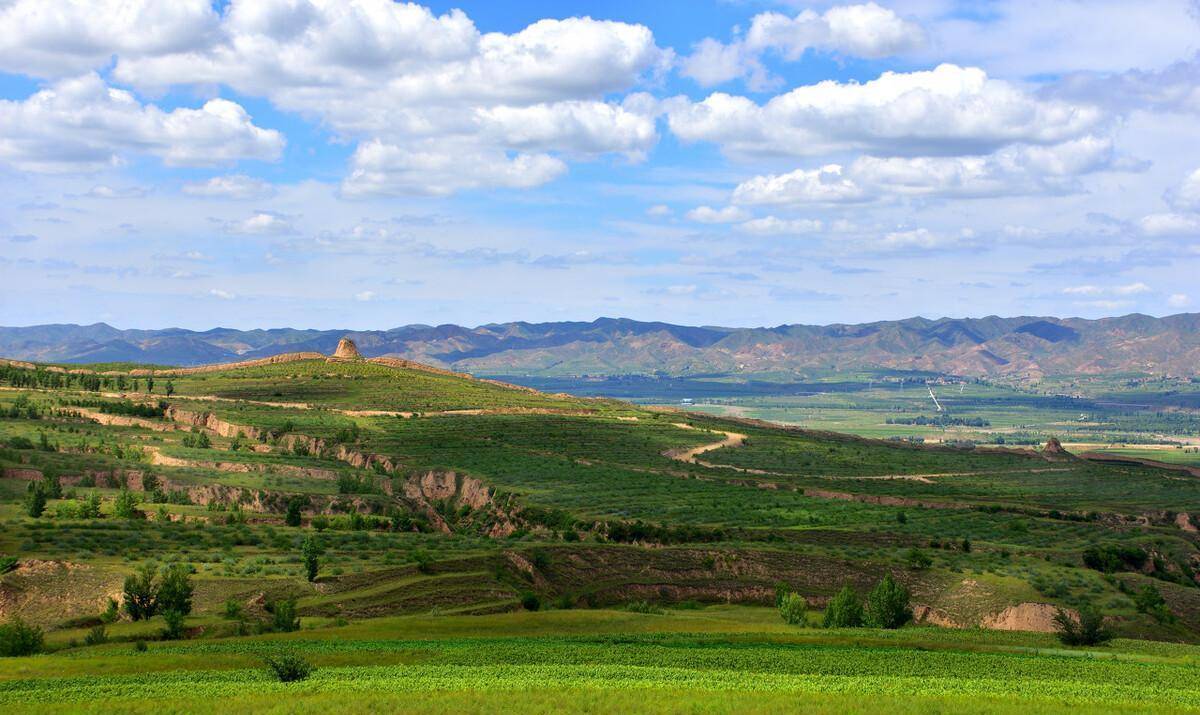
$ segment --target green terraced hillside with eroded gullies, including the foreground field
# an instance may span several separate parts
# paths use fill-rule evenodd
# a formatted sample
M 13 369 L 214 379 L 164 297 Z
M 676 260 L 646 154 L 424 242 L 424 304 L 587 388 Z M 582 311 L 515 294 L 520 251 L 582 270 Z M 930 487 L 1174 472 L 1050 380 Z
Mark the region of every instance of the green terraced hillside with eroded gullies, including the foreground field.
M 0 707 L 1200 709 L 1187 469 L 276 360 L 0 366 L 0 621 L 48 651 L 0 657 Z M 172 565 L 186 617 L 132 620 Z M 913 624 L 817 627 L 886 577 Z

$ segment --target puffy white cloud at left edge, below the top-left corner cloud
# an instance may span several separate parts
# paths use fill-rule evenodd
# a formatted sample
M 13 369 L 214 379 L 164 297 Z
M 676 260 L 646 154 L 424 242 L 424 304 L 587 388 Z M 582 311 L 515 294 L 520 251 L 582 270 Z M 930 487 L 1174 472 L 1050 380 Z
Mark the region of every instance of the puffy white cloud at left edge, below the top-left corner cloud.
M 275 160 L 283 136 L 254 126 L 241 106 L 209 100 L 163 112 L 96 74 L 58 82 L 23 101 L 0 101 L 0 162 L 28 172 L 86 172 L 128 155 L 168 166 Z

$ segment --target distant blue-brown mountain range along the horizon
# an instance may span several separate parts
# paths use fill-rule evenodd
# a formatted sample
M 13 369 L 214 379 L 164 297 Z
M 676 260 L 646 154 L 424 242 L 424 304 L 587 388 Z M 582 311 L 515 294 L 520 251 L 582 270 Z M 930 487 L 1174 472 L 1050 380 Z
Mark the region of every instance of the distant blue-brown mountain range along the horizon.
M 332 353 L 352 337 L 394 355 L 476 374 L 670 374 L 922 369 L 1036 378 L 1063 373 L 1200 375 L 1200 313 L 1165 318 L 908 318 L 859 325 L 691 328 L 590 323 L 407 325 L 391 330 L 119 330 L 0 328 L 0 356 L 44 362 L 205 365 L 278 353 Z

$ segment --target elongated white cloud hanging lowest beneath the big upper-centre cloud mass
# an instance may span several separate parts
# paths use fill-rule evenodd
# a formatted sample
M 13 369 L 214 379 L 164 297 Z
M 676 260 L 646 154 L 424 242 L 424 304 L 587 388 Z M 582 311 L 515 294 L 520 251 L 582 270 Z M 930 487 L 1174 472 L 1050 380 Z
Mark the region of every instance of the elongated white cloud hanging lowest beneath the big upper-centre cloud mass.
M 529 188 L 553 181 L 565 172 L 562 160 L 545 154 L 508 156 L 474 145 L 454 151 L 444 144 L 414 150 L 373 140 L 360 144 L 354 151 L 342 192 L 350 197 L 446 196 L 469 188 Z

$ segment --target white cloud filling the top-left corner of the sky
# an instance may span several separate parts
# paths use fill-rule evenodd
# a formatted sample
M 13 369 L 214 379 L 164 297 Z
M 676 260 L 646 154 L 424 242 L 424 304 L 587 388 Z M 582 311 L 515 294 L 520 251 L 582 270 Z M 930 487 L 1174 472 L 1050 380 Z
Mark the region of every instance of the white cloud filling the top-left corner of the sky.
M 211 0 L 7 0 L 0 2 L 0 71 L 67 77 L 200 47 L 216 29 Z

